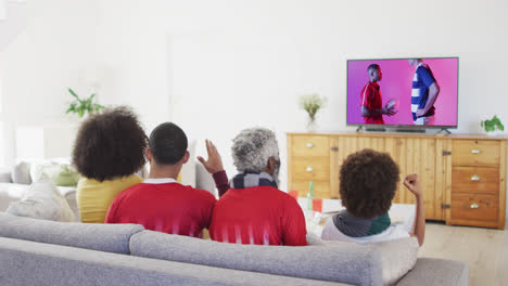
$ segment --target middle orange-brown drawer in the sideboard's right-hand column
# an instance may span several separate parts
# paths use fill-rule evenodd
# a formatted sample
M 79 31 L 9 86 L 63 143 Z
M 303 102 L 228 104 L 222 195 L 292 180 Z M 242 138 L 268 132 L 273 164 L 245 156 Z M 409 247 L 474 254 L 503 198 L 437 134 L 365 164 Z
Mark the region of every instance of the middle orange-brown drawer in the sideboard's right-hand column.
M 499 192 L 499 169 L 487 167 L 454 167 L 452 192 L 482 193 L 497 195 Z

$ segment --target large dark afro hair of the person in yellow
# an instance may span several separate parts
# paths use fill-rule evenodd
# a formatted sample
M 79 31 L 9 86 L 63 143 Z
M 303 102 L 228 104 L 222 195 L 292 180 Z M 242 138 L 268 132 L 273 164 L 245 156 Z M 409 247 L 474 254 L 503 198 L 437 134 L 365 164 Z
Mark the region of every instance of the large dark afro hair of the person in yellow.
M 99 182 L 129 176 L 144 165 L 147 145 L 144 130 L 129 107 L 105 109 L 79 127 L 73 165 L 80 174 Z

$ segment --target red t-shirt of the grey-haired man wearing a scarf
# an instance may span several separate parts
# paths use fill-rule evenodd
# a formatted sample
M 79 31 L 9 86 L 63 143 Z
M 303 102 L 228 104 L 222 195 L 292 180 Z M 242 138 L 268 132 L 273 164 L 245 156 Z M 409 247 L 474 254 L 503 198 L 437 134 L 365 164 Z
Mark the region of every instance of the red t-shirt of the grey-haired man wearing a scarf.
M 230 188 L 215 204 L 212 239 L 255 245 L 307 245 L 305 218 L 296 200 L 271 186 Z

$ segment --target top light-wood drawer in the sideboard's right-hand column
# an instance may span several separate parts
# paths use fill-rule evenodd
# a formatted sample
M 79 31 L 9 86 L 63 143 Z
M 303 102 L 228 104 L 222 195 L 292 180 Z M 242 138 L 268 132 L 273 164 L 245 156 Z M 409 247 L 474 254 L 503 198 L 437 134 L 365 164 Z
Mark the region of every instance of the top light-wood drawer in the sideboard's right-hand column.
M 499 166 L 499 142 L 487 140 L 454 140 L 453 166 Z

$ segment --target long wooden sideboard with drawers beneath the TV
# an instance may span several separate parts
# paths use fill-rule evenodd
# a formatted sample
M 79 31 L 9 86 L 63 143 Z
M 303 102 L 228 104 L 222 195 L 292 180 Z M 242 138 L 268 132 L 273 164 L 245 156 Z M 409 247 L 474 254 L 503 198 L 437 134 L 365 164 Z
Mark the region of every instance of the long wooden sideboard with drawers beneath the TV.
M 371 148 L 388 152 L 401 169 L 393 203 L 415 203 L 402 179 L 418 173 L 428 220 L 504 229 L 506 144 L 484 135 L 288 133 L 288 190 L 305 196 L 314 181 L 317 197 L 340 198 L 343 160 Z

